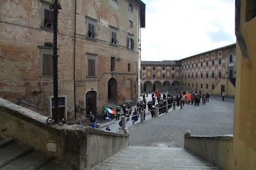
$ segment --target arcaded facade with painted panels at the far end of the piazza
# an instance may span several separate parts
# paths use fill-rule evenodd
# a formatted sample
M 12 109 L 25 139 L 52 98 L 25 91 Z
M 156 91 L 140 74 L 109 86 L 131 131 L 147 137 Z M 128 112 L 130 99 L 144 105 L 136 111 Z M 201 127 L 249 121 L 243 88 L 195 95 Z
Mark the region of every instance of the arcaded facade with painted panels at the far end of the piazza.
M 141 92 L 179 89 L 180 66 L 175 60 L 141 61 Z

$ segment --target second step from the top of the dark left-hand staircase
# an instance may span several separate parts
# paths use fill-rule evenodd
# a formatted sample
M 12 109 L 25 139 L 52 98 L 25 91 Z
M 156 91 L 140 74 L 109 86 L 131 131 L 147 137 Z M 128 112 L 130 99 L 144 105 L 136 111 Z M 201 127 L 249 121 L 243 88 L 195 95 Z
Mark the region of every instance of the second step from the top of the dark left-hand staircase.
M 16 142 L 10 143 L 0 148 L 0 167 L 19 159 L 20 157 L 33 151 L 33 148 L 26 145 L 19 145 Z

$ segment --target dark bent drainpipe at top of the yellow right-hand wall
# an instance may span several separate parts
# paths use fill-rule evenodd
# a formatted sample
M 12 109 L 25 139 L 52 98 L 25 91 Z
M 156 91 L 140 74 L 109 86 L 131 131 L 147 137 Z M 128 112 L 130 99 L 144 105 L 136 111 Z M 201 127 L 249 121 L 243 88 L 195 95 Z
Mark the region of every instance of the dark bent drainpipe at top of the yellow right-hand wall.
M 243 58 L 246 59 L 249 56 L 246 50 L 246 45 L 244 42 L 243 35 L 240 32 L 240 17 L 241 17 L 241 0 L 236 0 L 236 19 L 235 19 L 236 20 L 236 28 L 235 28 L 236 39 L 241 48 Z

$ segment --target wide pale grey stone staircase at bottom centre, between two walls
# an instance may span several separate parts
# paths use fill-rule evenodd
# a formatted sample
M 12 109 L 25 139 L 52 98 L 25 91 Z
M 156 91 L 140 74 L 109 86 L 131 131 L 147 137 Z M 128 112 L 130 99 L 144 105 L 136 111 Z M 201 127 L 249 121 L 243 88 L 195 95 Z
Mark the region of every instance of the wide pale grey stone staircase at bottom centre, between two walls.
M 184 148 L 150 146 L 129 146 L 92 169 L 218 170 L 217 167 L 184 150 Z

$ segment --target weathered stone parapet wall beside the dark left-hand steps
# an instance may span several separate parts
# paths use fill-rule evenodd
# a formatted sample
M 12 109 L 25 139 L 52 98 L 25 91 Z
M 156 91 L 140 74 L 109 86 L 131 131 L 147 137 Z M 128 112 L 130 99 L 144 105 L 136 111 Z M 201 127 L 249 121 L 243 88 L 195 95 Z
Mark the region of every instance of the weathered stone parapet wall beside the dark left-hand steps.
M 128 135 L 84 125 L 49 125 L 47 117 L 0 98 L 0 136 L 33 146 L 77 169 L 90 169 L 128 146 Z

